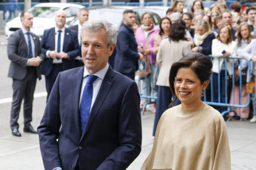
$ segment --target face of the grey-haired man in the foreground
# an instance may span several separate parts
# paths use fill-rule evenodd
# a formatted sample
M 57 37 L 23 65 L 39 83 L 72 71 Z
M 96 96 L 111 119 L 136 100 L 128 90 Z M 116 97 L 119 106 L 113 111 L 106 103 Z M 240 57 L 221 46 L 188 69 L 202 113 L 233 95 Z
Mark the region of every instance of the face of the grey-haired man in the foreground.
M 116 44 L 108 47 L 108 36 L 102 28 L 98 31 L 82 32 L 82 57 L 89 73 L 94 74 L 108 63 L 108 57 L 112 55 Z

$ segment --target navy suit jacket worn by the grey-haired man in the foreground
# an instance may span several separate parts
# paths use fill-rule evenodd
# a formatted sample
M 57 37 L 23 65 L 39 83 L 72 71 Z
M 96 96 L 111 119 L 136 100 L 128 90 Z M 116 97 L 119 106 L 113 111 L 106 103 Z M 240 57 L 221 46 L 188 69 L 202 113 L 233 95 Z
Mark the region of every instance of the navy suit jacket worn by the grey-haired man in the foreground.
M 81 134 L 83 69 L 59 73 L 49 96 L 38 127 L 45 169 L 72 169 L 78 158 L 80 169 L 126 169 L 141 150 L 137 84 L 109 67 Z

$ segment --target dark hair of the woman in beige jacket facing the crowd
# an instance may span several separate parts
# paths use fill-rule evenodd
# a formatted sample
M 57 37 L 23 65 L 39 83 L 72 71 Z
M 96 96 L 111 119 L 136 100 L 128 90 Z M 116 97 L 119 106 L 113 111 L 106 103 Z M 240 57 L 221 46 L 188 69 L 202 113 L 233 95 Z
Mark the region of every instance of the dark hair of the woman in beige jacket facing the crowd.
M 176 22 L 174 22 L 171 25 L 170 28 L 170 34 L 169 34 L 169 39 L 170 41 L 179 41 L 181 39 L 185 39 L 185 34 L 186 34 L 186 23 L 184 22 L 184 20 L 176 20 Z

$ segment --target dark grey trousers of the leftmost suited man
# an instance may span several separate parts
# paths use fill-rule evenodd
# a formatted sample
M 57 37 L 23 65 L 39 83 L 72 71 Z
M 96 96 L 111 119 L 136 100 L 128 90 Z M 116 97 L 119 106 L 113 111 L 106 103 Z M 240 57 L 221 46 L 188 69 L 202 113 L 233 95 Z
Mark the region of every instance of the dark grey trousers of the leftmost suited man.
M 36 69 L 34 67 L 27 67 L 27 74 L 22 80 L 12 79 L 12 89 L 14 91 L 12 95 L 12 108 L 11 108 L 11 129 L 19 129 L 19 114 L 20 106 L 23 102 L 23 116 L 24 127 L 30 126 L 32 121 L 32 107 L 34 92 L 36 86 Z

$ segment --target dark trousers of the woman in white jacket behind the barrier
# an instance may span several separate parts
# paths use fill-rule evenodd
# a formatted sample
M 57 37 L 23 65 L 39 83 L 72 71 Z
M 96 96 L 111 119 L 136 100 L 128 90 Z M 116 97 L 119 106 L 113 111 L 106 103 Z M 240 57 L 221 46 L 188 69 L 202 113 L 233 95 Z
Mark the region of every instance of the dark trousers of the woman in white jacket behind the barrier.
M 228 87 L 228 93 L 226 94 L 225 91 L 225 71 L 221 70 L 220 71 L 220 101 L 218 99 L 219 93 L 218 93 L 218 73 L 213 73 L 213 102 L 220 102 L 220 103 L 226 103 L 225 97 L 228 97 L 228 103 L 230 99 L 230 87 Z M 226 110 L 226 107 L 220 107 L 220 106 L 214 106 L 214 108 L 220 113 L 222 111 Z

